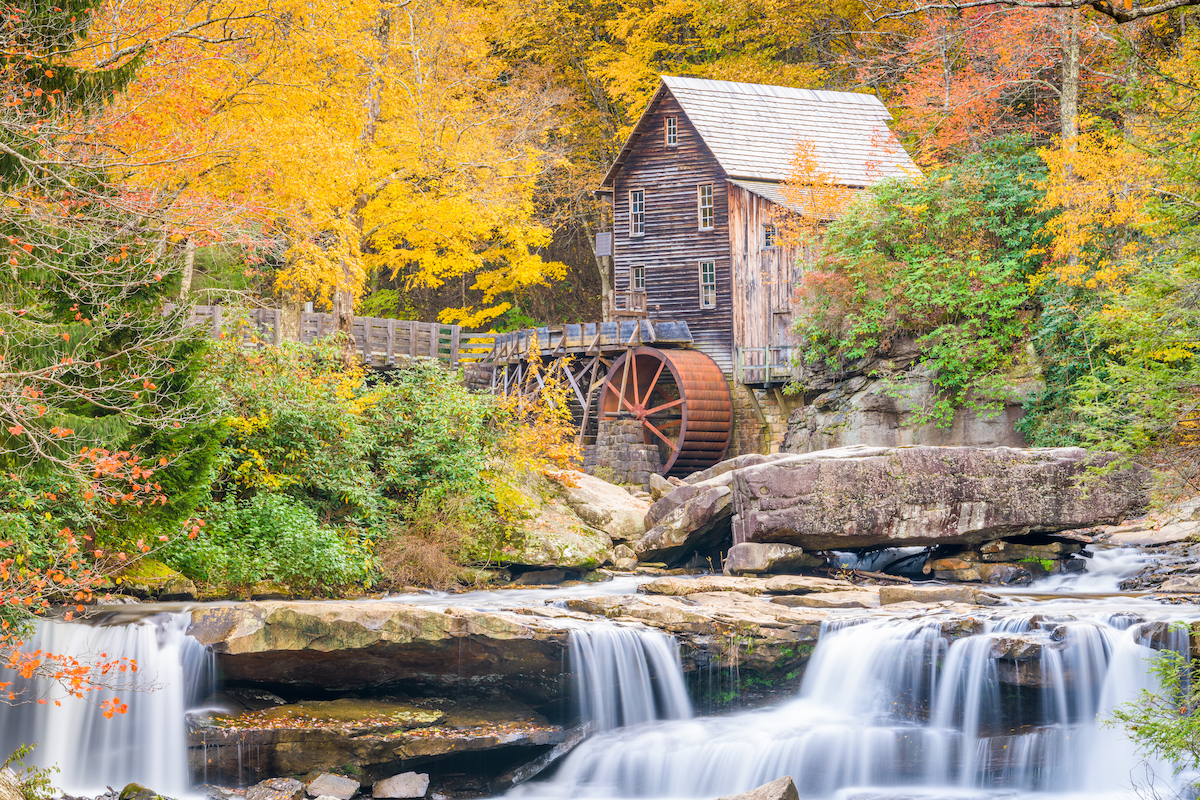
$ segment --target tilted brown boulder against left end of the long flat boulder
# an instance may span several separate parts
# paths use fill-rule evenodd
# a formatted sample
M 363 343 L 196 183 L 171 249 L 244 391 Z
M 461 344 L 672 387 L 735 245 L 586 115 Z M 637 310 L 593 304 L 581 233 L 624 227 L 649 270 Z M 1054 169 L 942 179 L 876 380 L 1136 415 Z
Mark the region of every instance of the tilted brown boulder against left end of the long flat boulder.
M 661 517 L 634 546 L 640 561 L 672 564 L 696 551 L 714 549 L 728 537 L 733 505 L 728 486 L 715 483 L 682 486 L 650 506 L 650 511 L 653 512 L 660 504 L 671 501 L 678 494 L 689 497 Z M 647 521 L 649 518 L 650 515 L 647 513 Z

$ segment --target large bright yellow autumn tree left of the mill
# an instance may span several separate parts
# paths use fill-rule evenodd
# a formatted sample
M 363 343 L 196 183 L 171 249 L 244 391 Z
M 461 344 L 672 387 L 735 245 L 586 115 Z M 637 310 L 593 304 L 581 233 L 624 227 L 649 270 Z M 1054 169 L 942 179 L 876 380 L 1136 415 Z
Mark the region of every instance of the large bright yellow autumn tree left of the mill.
M 154 54 L 116 136 L 172 154 L 145 191 L 282 240 L 276 287 L 343 327 L 376 271 L 463 279 L 443 319 L 486 325 L 563 269 L 534 209 L 557 94 L 500 68 L 486 22 L 452 0 L 284 0 L 233 46 Z

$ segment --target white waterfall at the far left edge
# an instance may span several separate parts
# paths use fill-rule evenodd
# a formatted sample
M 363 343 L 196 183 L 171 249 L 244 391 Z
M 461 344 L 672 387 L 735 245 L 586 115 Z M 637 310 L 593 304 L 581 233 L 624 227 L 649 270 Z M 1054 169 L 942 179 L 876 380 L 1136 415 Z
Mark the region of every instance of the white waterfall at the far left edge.
M 22 744 L 37 744 L 30 763 L 56 765 L 54 784 L 92 795 L 106 786 L 136 781 L 163 794 L 188 790 L 185 712 L 212 691 L 212 654 L 186 634 L 190 614 L 160 614 L 125 625 L 40 622 L 30 650 L 134 658 L 136 682 L 155 691 L 121 692 L 128 712 L 104 718 L 97 704 L 113 692 L 90 692 L 86 700 L 61 690 L 25 684 L 28 694 L 49 692 L 46 705 L 0 705 L 0 760 Z M 11 680 L 11 678 L 5 678 Z M 17 680 L 17 690 L 22 681 Z M 60 699 L 62 705 L 54 705 Z

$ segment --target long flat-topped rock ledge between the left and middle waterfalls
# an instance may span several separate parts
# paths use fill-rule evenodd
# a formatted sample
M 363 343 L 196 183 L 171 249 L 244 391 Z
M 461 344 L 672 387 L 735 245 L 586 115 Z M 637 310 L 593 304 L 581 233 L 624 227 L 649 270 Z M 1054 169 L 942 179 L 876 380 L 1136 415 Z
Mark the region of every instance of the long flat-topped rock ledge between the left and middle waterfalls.
M 188 633 L 234 685 L 475 692 L 534 705 L 559 698 L 570 637 L 536 618 L 467 608 L 284 601 L 198 608 Z

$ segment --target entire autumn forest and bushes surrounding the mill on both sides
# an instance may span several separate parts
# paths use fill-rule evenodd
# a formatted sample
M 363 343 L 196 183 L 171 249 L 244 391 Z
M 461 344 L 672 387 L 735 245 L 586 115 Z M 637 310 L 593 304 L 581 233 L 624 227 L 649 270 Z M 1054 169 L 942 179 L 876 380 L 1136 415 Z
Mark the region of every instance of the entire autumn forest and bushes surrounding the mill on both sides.
M 944 419 L 1032 360 L 1033 444 L 1200 488 L 1200 28 L 1097 8 L 10 4 L 2 624 L 151 551 L 223 595 L 475 579 L 536 494 L 514 464 L 569 458 L 562 420 L 336 343 L 208 342 L 187 303 L 596 319 L 592 191 L 662 73 L 875 94 L 920 164 L 824 225 L 809 365 L 916 336 Z

